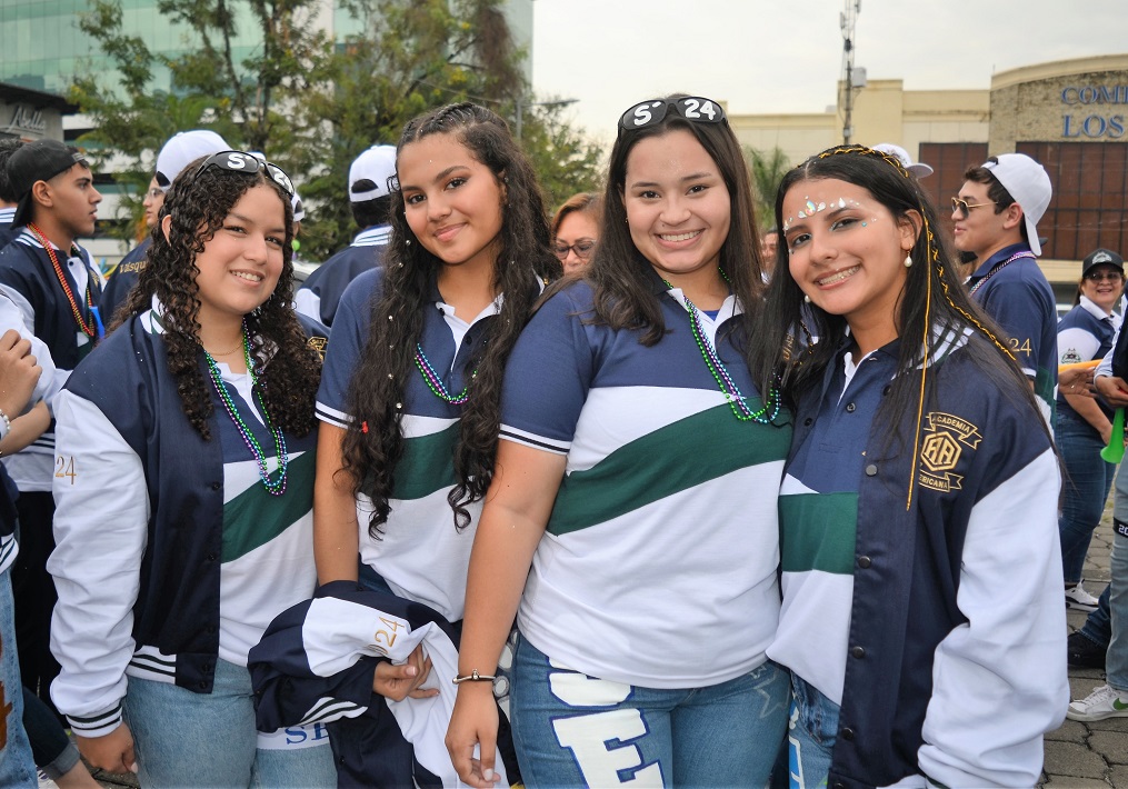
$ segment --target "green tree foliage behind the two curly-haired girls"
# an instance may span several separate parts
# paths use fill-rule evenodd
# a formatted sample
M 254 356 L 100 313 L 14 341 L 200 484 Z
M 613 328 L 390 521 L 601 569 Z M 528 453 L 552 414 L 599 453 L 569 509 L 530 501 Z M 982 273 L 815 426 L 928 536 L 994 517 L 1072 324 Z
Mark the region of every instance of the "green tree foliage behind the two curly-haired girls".
M 82 21 L 118 78 L 76 80 L 71 99 L 96 126 L 81 142 L 114 157 L 121 178 L 139 186 L 176 131 L 213 128 L 265 152 L 307 206 L 307 259 L 324 259 L 355 232 L 346 181 L 361 151 L 395 144 L 408 119 L 450 101 L 504 115 L 528 88 L 501 0 L 338 0 L 360 32 L 337 41 L 315 24 L 317 0 L 159 0 L 187 32 L 175 57 L 122 33 L 121 2 L 94 0 Z M 248 39 L 262 42 L 249 55 Z M 171 90 L 156 87 L 165 71 Z M 549 201 L 593 185 L 600 151 L 558 112 L 527 113 L 526 128 Z M 131 207 L 139 215 L 140 200 Z

